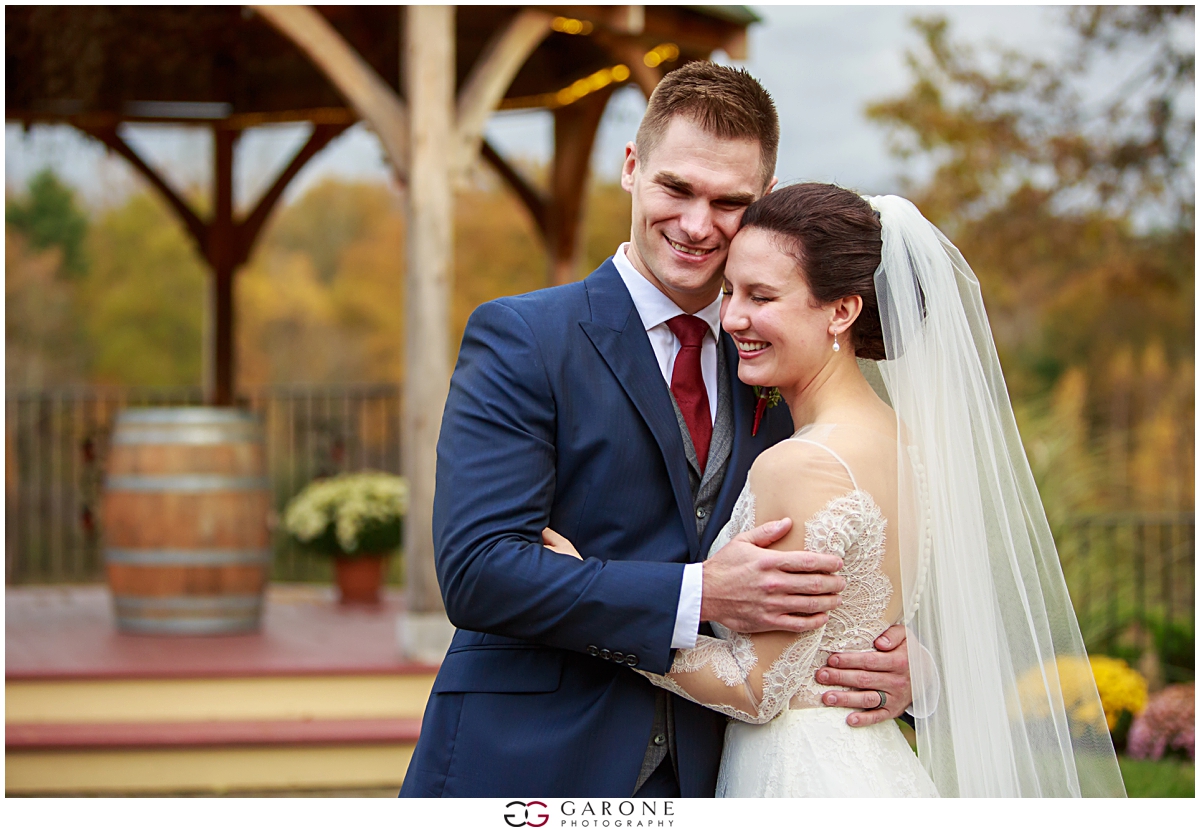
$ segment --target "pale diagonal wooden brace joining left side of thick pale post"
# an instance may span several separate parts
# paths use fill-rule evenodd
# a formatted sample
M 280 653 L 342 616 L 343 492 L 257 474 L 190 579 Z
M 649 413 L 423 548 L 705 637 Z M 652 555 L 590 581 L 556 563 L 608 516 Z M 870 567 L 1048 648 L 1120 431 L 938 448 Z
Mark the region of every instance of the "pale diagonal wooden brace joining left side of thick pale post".
M 311 6 L 251 6 L 295 43 L 371 125 L 401 184 L 408 181 L 408 109 L 320 12 Z M 454 78 L 451 66 L 450 77 Z M 451 80 L 452 83 L 452 80 Z

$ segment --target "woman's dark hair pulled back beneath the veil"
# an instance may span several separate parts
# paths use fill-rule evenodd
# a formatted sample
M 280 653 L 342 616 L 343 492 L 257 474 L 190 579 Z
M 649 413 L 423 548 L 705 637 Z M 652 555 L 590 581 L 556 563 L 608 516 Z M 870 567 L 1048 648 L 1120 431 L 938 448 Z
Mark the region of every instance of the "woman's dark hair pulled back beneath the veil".
M 742 227 L 776 234 L 817 302 L 862 296 L 863 311 L 850 329 L 854 356 L 887 359 L 875 296 L 883 242 L 866 199 L 835 185 L 791 185 L 746 208 Z

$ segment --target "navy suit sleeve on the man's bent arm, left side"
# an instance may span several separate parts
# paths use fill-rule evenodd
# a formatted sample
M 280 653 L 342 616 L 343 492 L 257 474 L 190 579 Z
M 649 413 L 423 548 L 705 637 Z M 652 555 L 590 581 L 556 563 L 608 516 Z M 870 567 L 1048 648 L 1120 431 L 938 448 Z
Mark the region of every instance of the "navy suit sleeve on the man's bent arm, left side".
M 580 561 L 542 547 L 556 428 L 529 325 L 502 302 L 480 306 L 463 334 L 438 439 L 433 542 L 446 613 L 456 627 L 606 648 L 664 672 L 684 565 Z

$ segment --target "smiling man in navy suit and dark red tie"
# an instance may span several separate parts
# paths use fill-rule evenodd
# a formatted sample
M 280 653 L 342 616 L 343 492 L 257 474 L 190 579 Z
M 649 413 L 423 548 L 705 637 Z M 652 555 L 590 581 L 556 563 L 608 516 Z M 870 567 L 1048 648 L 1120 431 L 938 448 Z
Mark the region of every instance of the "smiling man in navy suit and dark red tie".
M 630 244 L 583 282 L 472 316 L 433 512 L 458 631 L 402 795 L 712 797 L 725 717 L 630 668 L 668 671 L 702 623 L 811 630 L 840 601 L 839 559 L 766 549 L 787 519 L 706 560 L 755 457 L 792 433 L 782 406 L 755 431 L 719 320 L 730 240 L 774 186 L 778 145 L 748 73 L 672 72 L 626 149 Z M 544 547 L 546 527 L 583 561 Z M 856 725 L 911 701 L 902 629 L 884 636 L 818 675 L 863 689 L 840 692 L 845 707 L 887 692 Z

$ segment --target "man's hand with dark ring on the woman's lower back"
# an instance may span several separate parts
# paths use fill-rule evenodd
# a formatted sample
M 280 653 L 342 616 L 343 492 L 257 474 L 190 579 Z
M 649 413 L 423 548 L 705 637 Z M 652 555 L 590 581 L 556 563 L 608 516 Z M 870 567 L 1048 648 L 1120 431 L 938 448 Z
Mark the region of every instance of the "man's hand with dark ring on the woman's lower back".
M 871 726 L 895 717 L 912 705 L 908 674 L 908 631 L 893 625 L 875 639 L 875 650 L 832 654 L 827 667 L 817 671 L 822 685 L 844 685 L 853 691 L 826 691 L 821 699 L 835 708 L 858 708 L 846 717 L 851 726 Z M 887 696 L 882 708 L 880 691 Z

